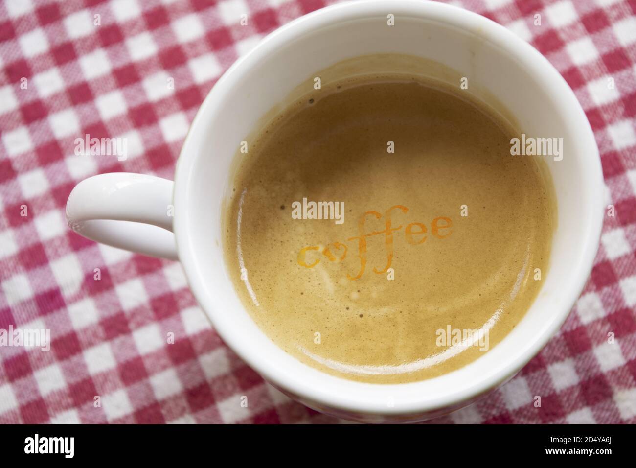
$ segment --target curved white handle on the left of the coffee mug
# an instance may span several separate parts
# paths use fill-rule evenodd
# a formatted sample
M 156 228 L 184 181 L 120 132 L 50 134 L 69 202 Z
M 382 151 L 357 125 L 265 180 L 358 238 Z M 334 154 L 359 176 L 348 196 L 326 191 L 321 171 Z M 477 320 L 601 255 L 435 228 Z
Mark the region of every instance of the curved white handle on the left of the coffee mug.
M 174 182 L 107 173 L 76 185 L 66 202 L 69 227 L 85 238 L 150 257 L 178 260 L 172 234 Z

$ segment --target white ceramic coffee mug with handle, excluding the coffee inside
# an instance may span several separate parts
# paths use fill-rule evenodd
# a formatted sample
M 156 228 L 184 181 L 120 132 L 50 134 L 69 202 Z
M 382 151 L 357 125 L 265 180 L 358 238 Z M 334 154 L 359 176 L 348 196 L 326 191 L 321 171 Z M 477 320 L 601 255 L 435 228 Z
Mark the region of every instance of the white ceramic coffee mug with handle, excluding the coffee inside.
M 471 364 L 399 385 L 337 378 L 278 348 L 242 306 L 222 248 L 221 203 L 239 142 L 312 73 L 370 53 L 415 55 L 465 73 L 471 86 L 497 96 L 525 132 L 562 137 L 567 145 L 562 160 L 547 160 L 558 222 L 550 269 L 530 310 Z M 141 174 L 100 174 L 81 181 L 66 207 L 69 226 L 87 238 L 178 259 L 212 325 L 247 364 L 310 408 L 363 422 L 443 415 L 511 378 L 555 334 L 581 293 L 603 212 L 604 181 L 593 132 L 550 62 L 487 18 L 412 0 L 335 4 L 280 27 L 237 60 L 205 98 L 184 141 L 174 183 Z

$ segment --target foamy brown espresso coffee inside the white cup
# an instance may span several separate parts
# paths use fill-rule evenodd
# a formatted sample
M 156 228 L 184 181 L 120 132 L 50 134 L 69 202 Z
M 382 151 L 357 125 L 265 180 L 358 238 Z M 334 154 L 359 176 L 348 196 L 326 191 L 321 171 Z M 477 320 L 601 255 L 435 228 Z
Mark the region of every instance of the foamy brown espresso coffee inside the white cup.
M 459 85 L 322 83 L 254 135 L 237 153 L 224 255 L 287 353 L 343 378 L 417 381 L 480 357 L 530 308 L 551 180 Z

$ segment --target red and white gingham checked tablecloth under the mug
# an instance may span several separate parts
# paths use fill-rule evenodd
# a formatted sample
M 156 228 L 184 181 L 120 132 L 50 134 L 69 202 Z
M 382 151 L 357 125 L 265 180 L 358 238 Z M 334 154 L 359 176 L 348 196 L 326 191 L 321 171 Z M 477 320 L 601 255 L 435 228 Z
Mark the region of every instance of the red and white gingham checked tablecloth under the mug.
M 0 348 L 0 423 L 337 422 L 237 358 L 179 264 L 97 245 L 64 218 L 69 192 L 93 174 L 172 178 L 188 125 L 223 71 L 266 33 L 328 3 L 0 4 L 0 329 L 52 334 L 49 352 Z M 433 422 L 635 423 L 636 2 L 454 3 L 505 25 L 563 74 L 595 132 L 616 216 L 558 336 L 502 388 Z M 85 134 L 127 137 L 128 159 L 74 155 Z

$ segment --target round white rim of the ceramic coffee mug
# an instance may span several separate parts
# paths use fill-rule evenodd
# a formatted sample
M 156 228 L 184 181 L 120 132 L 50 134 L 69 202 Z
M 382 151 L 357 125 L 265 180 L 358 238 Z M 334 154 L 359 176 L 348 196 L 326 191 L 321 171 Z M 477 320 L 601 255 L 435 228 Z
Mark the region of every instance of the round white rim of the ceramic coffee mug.
M 235 75 L 245 73 L 258 63 L 259 60 L 266 60 L 266 57 L 272 50 L 286 43 L 293 41 L 298 36 L 303 36 L 309 31 L 315 31 L 321 26 L 331 25 L 333 22 L 342 22 L 347 15 L 357 15 L 361 18 L 369 16 L 374 13 L 386 13 L 387 11 L 401 13 L 410 12 L 417 13 L 418 17 L 425 16 L 434 20 L 441 20 L 446 24 L 462 27 L 469 31 L 480 30 L 487 32 L 488 40 L 496 43 L 504 49 L 504 52 L 508 52 L 517 59 L 527 64 L 530 69 L 541 69 L 545 74 L 544 80 L 540 80 L 542 89 L 546 87 L 546 83 L 550 82 L 551 86 L 555 87 L 555 91 L 550 93 L 551 99 L 559 100 L 562 103 L 564 119 L 576 122 L 581 129 L 579 138 L 586 139 L 591 142 L 590 146 L 590 159 L 595 164 L 586 165 L 586 173 L 581 175 L 581 179 L 595 180 L 595 187 L 591 187 L 591 190 L 595 190 L 596 193 L 602 194 L 602 187 L 604 185 L 604 179 L 602 176 L 602 167 L 600 164 L 600 157 L 598 155 L 598 147 L 594 138 L 593 131 L 590 127 L 590 123 L 586 118 L 581 104 L 576 99 L 574 92 L 570 89 L 567 82 L 563 79 L 560 73 L 555 67 L 550 64 L 548 59 L 538 52 L 529 43 L 518 38 L 513 32 L 506 29 L 504 26 L 497 24 L 496 22 L 489 20 L 478 13 L 473 13 L 469 10 L 464 10 L 457 6 L 435 3 L 435 2 L 421 2 L 418 0 L 356 0 L 347 1 L 344 3 L 337 3 L 331 6 L 322 8 L 321 10 L 313 11 L 307 15 L 296 18 L 295 20 L 282 25 L 275 31 L 271 32 L 263 38 L 258 45 L 254 46 L 252 50 L 236 60 L 232 66 L 219 78 L 218 82 L 212 87 L 209 94 L 205 97 L 201 104 L 193 122 L 190 126 L 190 130 L 186 135 L 179 159 L 177 160 L 175 180 L 174 180 L 174 234 L 176 236 L 176 247 L 179 256 L 179 261 L 183 265 L 186 279 L 191 291 L 195 295 L 198 304 L 202 307 L 207 318 L 211 321 L 213 327 L 218 332 L 219 336 L 225 341 L 226 344 L 239 355 L 252 369 L 258 372 L 269 383 L 281 388 L 282 390 L 289 390 L 294 395 L 298 395 L 308 401 L 318 402 L 328 408 L 339 408 L 349 411 L 356 411 L 360 413 L 376 414 L 376 415 L 403 415 L 406 413 L 417 413 L 424 411 L 431 411 L 432 409 L 446 408 L 450 406 L 458 405 L 462 402 L 474 398 L 476 395 L 484 394 L 492 388 L 500 385 L 506 379 L 511 378 L 517 371 L 519 371 L 532 357 L 534 357 L 541 349 L 544 348 L 546 343 L 554 336 L 554 334 L 560 329 L 563 322 L 569 315 L 572 307 L 574 306 L 577 298 L 581 294 L 585 282 L 589 276 L 591 267 L 593 266 L 593 260 L 598 250 L 600 242 L 600 234 L 602 230 L 603 221 L 603 200 L 600 197 L 598 204 L 598 216 L 592 218 L 591 229 L 581 236 L 581 241 L 584 242 L 585 248 L 581 258 L 581 264 L 585 267 L 579 269 L 576 272 L 576 280 L 572 282 L 570 290 L 565 291 L 569 307 L 563 308 L 563 310 L 556 310 L 555 319 L 544 328 L 541 334 L 538 334 L 536 339 L 525 347 L 520 353 L 513 359 L 501 365 L 501 368 L 488 378 L 484 378 L 481 381 L 474 383 L 472 386 L 467 386 L 463 390 L 460 389 L 457 392 L 448 392 L 447 395 L 439 397 L 437 399 L 429 399 L 427 395 L 422 395 L 420 399 L 411 399 L 410 404 L 400 405 L 395 408 L 387 407 L 385 404 L 371 404 L 369 401 L 363 401 L 363 399 L 349 399 L 346 400 L 339 398 L 338 395 L 334 395 L 335 392 L 329 392 L 321 388 L 312 388 L 308 385 L 303 385 L 301 381 L 284 380 L 281 372 L 277 372 L 277 365 L 279 363 L 266 363 L 263 360 L 257 360 L 254 357 L 254 351 L 244 348 L 239 343 L 239 340 L 235 339 L 237 334 L 240 334 L 240 330 L 229 329 L 228 327 L 219 327 L 218 321 L 214 320 L 215 308 L 213 304 L 209 304 L 207 300 L 207 289 L 203 284 L 203 275 L 199 274 L 200 271 L 197 267 L 197 249 L 193 245 L 193 241 L 189 236 L 188 230 L 188 216 L 180 216 L 179 213 L 186 212 L 190 204 L 188 201 L 188 185 L 189 180 L 197 175 L 195 170 L 196 166 L 196 152 L 190 150 L 192 146 L 193 134 L 195 132 L 203 131 L 207 122 L 212 120 L 212 115 L 218 112 L 215 108 L 218 104 L 218 100 L 223 97 L 226 92 L 230 92 L 233 89 L 234 83 L 239 80 L 235 79 Z M 223 267 L 223 266 L 219 266 Z M 233 294 L 236 294 L 233 291 Z M 474 362 L 478 362 L 480 358 Z M 326 378 L 329 376 L 326 372 L 322 372 L 316 369 L 317 372 L 321 372 Z M 330 376 L 331 377 L 331 376 Z M 416 381 L 413 383 L 404 384 L 379 384 L 379 383 L 364 383 L 358 381 L 350 381 L 343 379 L 350 385 L 358 385 L 360 390 L 363 387 L 382 386 L 382 387 L 396 387 L 417 385 L 425 382 L 426 380 Z M 428 379 L 429 380 L 429 379 Z

